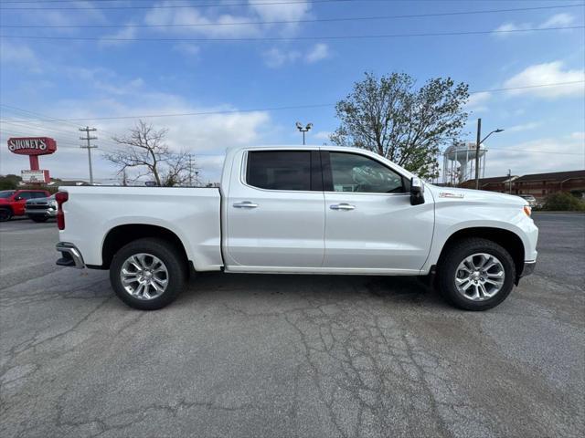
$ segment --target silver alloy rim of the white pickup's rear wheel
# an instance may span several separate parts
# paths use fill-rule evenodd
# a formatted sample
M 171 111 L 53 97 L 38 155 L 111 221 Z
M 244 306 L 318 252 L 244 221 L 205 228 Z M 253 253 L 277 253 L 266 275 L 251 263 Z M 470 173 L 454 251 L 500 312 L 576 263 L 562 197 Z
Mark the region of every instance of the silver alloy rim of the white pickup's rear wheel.
M 168 286 L 168 270 L 155 255 L 134 254 L 122 264 L 120 279 L 124 290 L 134 298 L 150 300 L 160 297 Z

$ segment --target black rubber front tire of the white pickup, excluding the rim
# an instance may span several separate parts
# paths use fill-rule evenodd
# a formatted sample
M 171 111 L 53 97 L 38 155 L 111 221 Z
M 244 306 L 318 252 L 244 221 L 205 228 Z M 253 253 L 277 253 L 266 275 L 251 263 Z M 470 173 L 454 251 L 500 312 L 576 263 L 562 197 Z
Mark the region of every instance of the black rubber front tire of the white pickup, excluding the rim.
M 457 267 L 469 255 L 485 253 L 495 256 L 504 267 L 504 284 L 494 297 L 475 301 L 469 297 L 463 297 L 455 285 Z M 512 256 L 495 242 L 482 238 L 463 239 L 447 249 L 447 254 L 441 256 L 437 270 L 437 280 L 441 295 L 453 306 L 465 310 L 481 311 L 495 308 L 510 295 L 516 279 L 516 266 Z

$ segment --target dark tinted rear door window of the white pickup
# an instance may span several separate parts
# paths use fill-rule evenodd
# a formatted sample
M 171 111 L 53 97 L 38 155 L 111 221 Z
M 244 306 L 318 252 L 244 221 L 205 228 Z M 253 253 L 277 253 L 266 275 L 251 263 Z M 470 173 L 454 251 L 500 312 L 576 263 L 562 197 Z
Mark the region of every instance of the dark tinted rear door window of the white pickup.
M 311 151 L 250 151 L 246 183 L 268 190 L 311 190 Z

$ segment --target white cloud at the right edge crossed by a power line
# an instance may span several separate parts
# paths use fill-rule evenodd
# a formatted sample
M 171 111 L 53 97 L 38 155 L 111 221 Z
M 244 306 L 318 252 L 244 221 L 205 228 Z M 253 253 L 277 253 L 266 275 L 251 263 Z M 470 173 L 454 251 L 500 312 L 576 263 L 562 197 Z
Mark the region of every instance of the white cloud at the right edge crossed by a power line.
M 543 84 L 576 82 L 585 79 L 585 69 L 564 68 L 562 61 L 548 62 L 529 66 L 504 82 L 504 88 L 532 87 Z M 557 87 L 539 87 L 532 89 L 512 89 L 508 94 L 513 96 L 529 95 L 539 98 L 555 99 L 561 97 L 580 97 L 583 99 L 581 83 Z

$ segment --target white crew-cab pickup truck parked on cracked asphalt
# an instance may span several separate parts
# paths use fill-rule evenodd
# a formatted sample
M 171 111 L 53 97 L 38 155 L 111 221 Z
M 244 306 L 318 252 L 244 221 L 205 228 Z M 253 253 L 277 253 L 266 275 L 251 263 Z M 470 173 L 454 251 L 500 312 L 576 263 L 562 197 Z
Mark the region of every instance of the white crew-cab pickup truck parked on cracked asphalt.
M 455 306 L 484 310 L 537 260 L 522 198 L 423 183 L 361 149 L 230 149 L 220 188 L 60 190 L 58 265 L 110 269 L 133 308 L 223 270 L 431 276 Z

